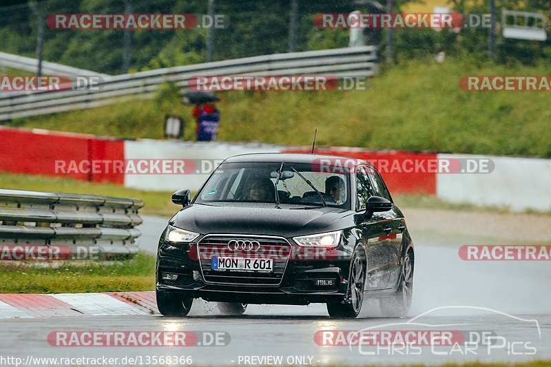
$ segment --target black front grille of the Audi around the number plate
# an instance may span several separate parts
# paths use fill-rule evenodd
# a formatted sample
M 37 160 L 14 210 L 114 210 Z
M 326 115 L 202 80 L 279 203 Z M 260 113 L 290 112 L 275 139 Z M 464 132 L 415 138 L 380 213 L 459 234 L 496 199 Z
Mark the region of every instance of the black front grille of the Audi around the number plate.
M 258 241 L 257 251 L 231 251 L 228 243 L 231 240 Z M 278 286 L 282 282 L 291 244 L 282 237 L 261 235 L 206 235 L 198 242 L 199 262 L 203 279 L 210 284 L 235 284 L 250 286 Z M 214 255 L 225 255 L 244 258 L 273 258 L 273 271 L 216 271 L 211 269 Z

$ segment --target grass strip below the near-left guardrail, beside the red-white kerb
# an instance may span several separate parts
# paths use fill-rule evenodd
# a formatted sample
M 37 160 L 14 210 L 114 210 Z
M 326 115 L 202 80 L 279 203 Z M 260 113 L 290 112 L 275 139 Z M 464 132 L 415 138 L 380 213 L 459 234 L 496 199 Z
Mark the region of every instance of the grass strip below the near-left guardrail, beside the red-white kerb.
M 155 256 L 138 253 L 132 260 L 36 266 L 10 262 L 0 266 L 0 293 L 87 293 L 154 291 Z

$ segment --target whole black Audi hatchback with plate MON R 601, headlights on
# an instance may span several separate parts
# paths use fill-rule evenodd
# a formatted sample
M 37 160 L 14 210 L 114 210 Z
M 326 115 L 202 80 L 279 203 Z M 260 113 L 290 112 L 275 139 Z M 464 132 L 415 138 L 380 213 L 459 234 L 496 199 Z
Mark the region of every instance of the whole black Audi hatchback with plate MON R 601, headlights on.
M 325 303 L 356 317 L 365 297 L 383 315 L 408 312 L 414 252 L 404 215 L 368 162 L 317 154 L 244 154 L 220 164 L 160 237 L 161 314 L 195 298 L 224 314 L 247 304 Z

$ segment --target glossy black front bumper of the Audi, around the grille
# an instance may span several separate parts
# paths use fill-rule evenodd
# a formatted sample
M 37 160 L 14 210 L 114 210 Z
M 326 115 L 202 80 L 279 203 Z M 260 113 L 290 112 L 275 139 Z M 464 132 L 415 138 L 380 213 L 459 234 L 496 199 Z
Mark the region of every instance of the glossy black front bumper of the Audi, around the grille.
M 285 240 L 290 252 L 282 274 L 272 284 L 247 284 L 254 283 L 255 273 L 248 273 L 247 280 L 219 276 L 224 282 L 207 275 L 211 253 L 204 251 L 203 239 L 183 246 L 161 242 L 157 257 L 157 291 L 181 292 L 187 297 L 207 301 L 247 304 L 323 303 L 342 300 L 346 295 L 351 251 L 344 247 L 331 249 L 323 256 L 316 255 L 319 251 L 306 249 L 304 255 L 303 247 Z M 163 279 L 166 274 L 176 279 Z

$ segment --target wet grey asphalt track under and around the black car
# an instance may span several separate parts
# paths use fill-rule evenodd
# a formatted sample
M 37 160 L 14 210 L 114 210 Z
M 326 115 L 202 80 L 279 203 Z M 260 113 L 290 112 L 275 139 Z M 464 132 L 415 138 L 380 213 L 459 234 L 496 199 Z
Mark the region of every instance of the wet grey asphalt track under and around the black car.
M 145 224 L 141 227 L 143 249 L 154 251 L 165 223 L 164 219 L 145 217 Z M 404 325 L 410 317 L 380 317 L 373 302 L 364 305 L 362 315 L 354 320 L 329 319 L 322 304 L 251 305 L 241 317 L 225 317 L 218 314 L 214 304 L 196 302 L 190 316 L 185 319 L 143 315 L 3 320 L 0 322 L 0 355 L 23 359 L 28 355 L 119 358 L 178 355 L 191 356 L 193 364 L 200 366 L 256 365 L 244 364 L 244 356 L 282 356 L 283 364 L 287 361 L 300 364 L 300 359 L 293 360 L 297 356 L 318 365 L 551 359 L 551 293 L 548 285 L 551 268 L 548 262 L 464 262 L 457 255 L 457 247 L 464 244 L 461 238 L 457 239 L 457 246 L 441 246 L 430 234 L 415 237 L 413 233 L 413 238 L 416 244 L 415 291 L 410 316 L 421 315 L 413 319 L 417 324 Z M 450 306 L 455 307 L 440 308 L 423 315 L 433 308 Z M 492 346 L 481 345 L 468 354 L 464 354 L 464 348 L 450 350 L 449 347 L 430 346 L 410 348 L 408 353 L 399 348 L 381 348 L 377 353 L 374 348 L 366 347 L 360 350 L 357 346 L 319 346 L 314 340 L 315 333 L 320 330 L 357 331 L 370 327 L 380 330 L 381 325 L 391 323 L 397 324 L 391 327 L 395 330 L 433 329 L 473 332 L 476 335 L 488 332 L 503 339 L 496 340 Z M 46 341 L 51 331 L 70 330 L 225 331 L 231 341 L 227 346 L 183 348 L 63 348 L 52 347 Z M 534 348 L 535 354 L 532 354 Z M 366 354 L 372 352 L 375 355 Z M 260 364 L 258 360 L 255 362 Z

